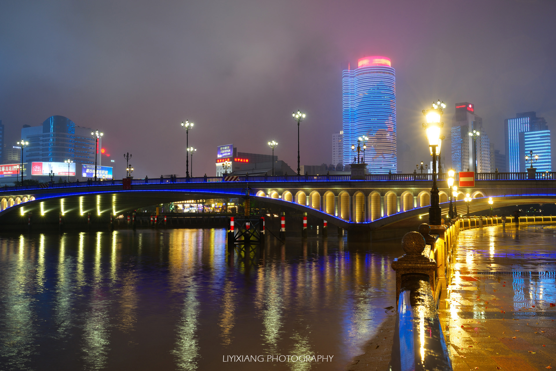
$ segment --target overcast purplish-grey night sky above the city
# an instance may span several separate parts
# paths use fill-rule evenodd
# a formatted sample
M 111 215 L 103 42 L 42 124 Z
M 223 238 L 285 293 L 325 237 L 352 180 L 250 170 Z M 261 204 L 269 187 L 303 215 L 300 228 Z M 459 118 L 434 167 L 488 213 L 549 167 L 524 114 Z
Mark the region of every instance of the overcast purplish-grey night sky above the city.
M 456 102 L 474 103 L 504 152 L 517 112 L 556 129 L 555 17 L 554 0 L 1 0 L 0 119 L 7 141 L 56 114 L 98 128 L 120 164 L 133 154 L 136 177 L 185 176 L 189 119 L 193 175 L 214 176 L 229 143 L 270 154 L 275 139 L 295 168 L 299 108 L 301 164 L 330 163 L 341 71 L 382 55 L 396 70 L 398 138 L 419 156 L 421 109 L 437 98 L 447 127 Z

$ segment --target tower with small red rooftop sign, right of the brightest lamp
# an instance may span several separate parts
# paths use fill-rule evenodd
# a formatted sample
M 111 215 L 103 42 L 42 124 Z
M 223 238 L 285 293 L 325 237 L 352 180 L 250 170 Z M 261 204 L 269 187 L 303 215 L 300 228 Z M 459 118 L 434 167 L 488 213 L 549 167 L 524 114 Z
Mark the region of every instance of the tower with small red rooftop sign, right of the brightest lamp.
M 476 143 L 469 132 L 478 131 Z M 475 105 L 469 102 L 456 103 L 454 123 L 450 129 L 451 162 L 456 172 L 475 171 L 491 172 L 490 139 L 483 129 L 483 119 L 475 114 Z M 475 148 L 476 145 L 476 159 Z

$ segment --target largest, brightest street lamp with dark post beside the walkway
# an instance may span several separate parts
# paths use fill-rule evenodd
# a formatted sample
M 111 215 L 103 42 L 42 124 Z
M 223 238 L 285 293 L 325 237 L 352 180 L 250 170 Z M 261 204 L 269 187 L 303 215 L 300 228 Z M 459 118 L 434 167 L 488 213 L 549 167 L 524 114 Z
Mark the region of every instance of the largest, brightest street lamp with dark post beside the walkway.
M 440 225 L 442 209 L 440 208 L 440 200 L 438 197 L 438 185 L 436 185 L 436 149 L 439 147 L 440 129 L 444 126 L 440 122 L 440 117 L 444 113 L 446 104 L 444 102 L 433 102 L 430 109 L 423 110 L 426 123 L 423 123 L 423 129 L 426 132 L 426 138 L 429 141 L 429 147 L 433 150 L 433 188 L 430 190 L 430 207 L 429 207 L 429 224 Z

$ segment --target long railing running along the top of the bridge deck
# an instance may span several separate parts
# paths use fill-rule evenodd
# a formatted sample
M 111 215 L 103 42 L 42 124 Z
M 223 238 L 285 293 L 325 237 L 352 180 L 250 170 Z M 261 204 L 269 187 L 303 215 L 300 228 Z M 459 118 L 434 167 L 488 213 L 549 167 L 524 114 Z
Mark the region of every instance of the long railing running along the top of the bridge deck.
M 438 181 L 445 181 L 447 174 L 438 175 Z M 350 175 L 301 175 L 301 176 L 226 176 L 226 177 L 190 177 L 190 178 L 146 178 L 131 179 L 131 184 L 166 184 L 166 183 L 224 183 L 224 182 L 347 182 L 351 181 Z M 459 176 L 456 173 L 455 179 Z M 477 173 L 475 179 L 478 181 L 521 181 L 533 180 L 528 179 L 528 173 Z M 536 173 L 537 181 L 550 181 L 556 179 L 556 172 L 552 173 Z M 364 181 L 351 182 L 385 182 L 385 181 L 432 181 L 433 174 L 366 174 Z M 105 180 L 105 181 L 85 181 L 71 183 L 54 183 L 48 182 L 44 184 L 17 185 L 8 187 L 0 187 L 0 192 L 12 190 L 41 189 L 41 188 L 66 188 L 66 187 L 87 187 L 91 185 L 122 185 L 121 179 Z

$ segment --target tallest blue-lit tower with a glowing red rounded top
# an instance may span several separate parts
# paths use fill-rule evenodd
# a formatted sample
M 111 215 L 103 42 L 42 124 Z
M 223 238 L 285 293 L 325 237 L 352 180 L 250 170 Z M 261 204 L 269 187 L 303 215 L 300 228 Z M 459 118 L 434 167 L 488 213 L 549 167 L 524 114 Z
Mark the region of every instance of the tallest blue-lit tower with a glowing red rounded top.
M 396 172 L 396 77 L 389 58 L 361 58 L 342 73 L 342 121 L 344 166 L 357 156 L 351 150 L 357 138 L 367 136 L 368 172 Z

